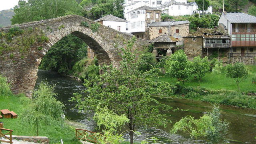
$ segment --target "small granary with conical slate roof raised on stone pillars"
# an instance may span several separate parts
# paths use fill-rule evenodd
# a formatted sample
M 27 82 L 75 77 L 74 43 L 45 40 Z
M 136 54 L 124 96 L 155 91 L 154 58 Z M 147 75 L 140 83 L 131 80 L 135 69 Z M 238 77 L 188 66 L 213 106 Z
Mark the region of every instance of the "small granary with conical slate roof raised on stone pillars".
M 156 55 L 157 59 L 162 58 L 163 56 L 170 56 L 176 50 L 176 42 L 179 42 L 177 38 L 169 36 L 168 34 L 160 35 L 150 42 L 154 43 L 153 54 Z

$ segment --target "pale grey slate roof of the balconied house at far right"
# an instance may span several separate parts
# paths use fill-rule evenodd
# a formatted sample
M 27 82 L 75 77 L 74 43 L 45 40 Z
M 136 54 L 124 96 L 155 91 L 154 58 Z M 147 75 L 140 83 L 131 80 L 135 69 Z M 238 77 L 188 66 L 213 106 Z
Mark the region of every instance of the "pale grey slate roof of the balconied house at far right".
M 256 17 L 242 12 L 228 12 L 224 17 L 231 23 L 256 23 Z

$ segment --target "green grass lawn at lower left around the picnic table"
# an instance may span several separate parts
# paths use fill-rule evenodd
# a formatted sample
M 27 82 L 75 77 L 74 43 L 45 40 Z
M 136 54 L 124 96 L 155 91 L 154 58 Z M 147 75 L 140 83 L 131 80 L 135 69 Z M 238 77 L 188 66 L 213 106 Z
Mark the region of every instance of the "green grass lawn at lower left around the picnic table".
M 16 119 L 0 119 L 0 122 L 4 122 L 4 128 L 14 130 L 13 135 L 21 136 L 36 136 L 36 129 L 34 126 L 27 124 L 22 121 L 22 112 L 27 108 L 29 98 L 24 96 L 9 96 L 8 99 L 4 99 L 0 96 L 0 110 L 9 109 L 18 114 Z M 39 128 L 39 136 L 47 136 L 50 138 L 50 144 L 60 144 L 60 139 L 65 144 L 80 144 L 75 138 L 75 128 L 66 124 L 55 124 L 55 125 L 41 125 Z

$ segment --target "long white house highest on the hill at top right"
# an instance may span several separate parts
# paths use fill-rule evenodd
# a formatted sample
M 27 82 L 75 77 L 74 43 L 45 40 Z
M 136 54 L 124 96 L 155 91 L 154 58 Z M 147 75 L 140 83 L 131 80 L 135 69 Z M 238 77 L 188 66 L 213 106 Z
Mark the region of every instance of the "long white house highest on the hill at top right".
M 178 0 L 171 0 L 166 4 L 162 4 L 158 9 L 160 9 L 162 13 L 169 14 L 170 16 L 184 16 L 202 13 L 202 11 L 198 10 L 198 6 L 195 2 L 182 3 L 176 1 Z M 212 14 L 212 6 L 209 6 L 205 12 Z

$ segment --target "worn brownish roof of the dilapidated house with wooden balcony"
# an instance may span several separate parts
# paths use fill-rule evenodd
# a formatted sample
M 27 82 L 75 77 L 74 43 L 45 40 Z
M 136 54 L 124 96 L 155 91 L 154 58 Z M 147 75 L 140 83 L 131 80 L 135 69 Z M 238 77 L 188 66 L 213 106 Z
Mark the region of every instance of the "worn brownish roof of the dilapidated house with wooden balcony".
M 212 28 L 198 28 L 193 34 L 184 37 L 203 37 L 203 38 L 230 38 L 229 36 L 222 35 L 218 30 Z

